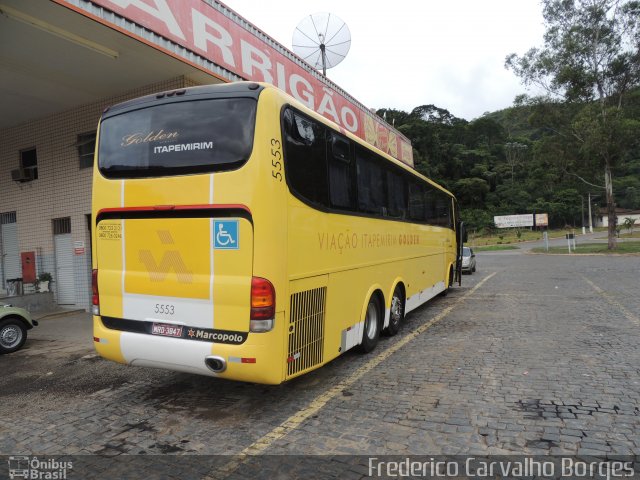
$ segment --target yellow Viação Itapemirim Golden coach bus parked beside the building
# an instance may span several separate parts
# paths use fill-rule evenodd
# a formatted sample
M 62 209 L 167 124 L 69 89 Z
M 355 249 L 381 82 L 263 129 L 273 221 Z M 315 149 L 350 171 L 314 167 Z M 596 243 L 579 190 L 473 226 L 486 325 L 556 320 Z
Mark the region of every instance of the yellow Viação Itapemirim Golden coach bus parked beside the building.
M 94 344 L 278 384 L 375 348 L 453 283 L 453 195 L 267 84 L 111 107 L 93 177 Z

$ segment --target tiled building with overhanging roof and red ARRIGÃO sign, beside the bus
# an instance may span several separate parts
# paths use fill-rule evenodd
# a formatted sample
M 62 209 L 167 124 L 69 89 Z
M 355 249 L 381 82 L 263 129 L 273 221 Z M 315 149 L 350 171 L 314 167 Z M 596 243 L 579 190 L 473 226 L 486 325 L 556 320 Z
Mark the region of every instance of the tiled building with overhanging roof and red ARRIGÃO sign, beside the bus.
M 141 95 L 272 83 L 412 164 L 409 141 L 282 45 L 214 0 L 3 0 L 0 5 L 0 297 L 91 301 L 96 125 Z

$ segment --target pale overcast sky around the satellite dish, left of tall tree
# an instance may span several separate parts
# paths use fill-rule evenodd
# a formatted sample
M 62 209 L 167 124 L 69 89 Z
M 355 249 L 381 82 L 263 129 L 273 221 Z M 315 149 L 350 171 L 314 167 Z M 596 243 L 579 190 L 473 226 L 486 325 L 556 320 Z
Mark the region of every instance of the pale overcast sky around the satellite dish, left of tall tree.
M 369 108 L 434 104 L 472 120 L 525 93 L 504 68 L 542 45 L 539 0 L 222 0 L 285 47 L 311 14 L 346 22 L 351 49 L 327 77 Z

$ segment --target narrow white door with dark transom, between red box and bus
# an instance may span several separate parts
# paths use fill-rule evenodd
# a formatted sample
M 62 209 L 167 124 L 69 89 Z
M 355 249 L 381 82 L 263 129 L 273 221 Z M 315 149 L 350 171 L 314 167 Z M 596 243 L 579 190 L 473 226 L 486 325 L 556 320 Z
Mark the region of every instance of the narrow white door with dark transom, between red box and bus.
M 74 305 L 76 303 L 76 292 L 70 217 L 53 220 L 53 242 L 56 256 L 55 282 L 58 304 Z

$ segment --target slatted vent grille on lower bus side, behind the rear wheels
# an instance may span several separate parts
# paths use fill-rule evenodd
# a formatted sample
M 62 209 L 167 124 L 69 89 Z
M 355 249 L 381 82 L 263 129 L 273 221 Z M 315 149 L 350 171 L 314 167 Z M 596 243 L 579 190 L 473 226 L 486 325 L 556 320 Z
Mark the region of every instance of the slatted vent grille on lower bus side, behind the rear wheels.
M 322 363 L 327 287 L 291 295 L 287 375 Z

